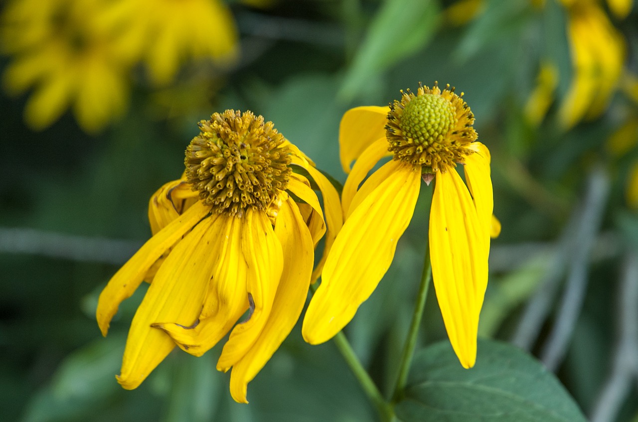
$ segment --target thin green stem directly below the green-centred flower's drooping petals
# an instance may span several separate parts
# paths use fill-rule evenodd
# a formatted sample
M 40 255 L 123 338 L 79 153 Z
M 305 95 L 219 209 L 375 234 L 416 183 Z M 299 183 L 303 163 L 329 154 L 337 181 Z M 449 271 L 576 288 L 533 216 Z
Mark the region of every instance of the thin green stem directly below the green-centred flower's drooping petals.
M 408 337 L 406 338 L 403 346 L 399 375 L 397 376 L 397 381 L 394 385 L 394 393 L 392 393 L 392 403 L 396 403 L 401 399 L 403 389 L 408 381 L 408 372 L 410 371 L 410 365 L 412 364 L 414 347 L 417 344 L 417 335 L 419 334 L 419 326 L 421 325 L 421 318 L 423 317 L 423 309 L 426 306 L 427 290 L 430 286 L 431 278 L 432 266 L 430 264 L 429 245 L 426 244 L 426 256 L 423 263 L 423 273 L 421 274 L 419 293 L 417 294 L 417 303 L 414 305 L 414 313 L 412 314 L 410 330 L 408 331 Z

